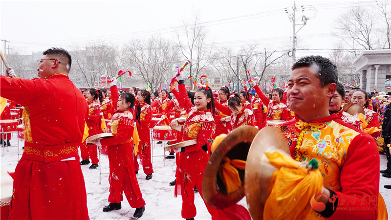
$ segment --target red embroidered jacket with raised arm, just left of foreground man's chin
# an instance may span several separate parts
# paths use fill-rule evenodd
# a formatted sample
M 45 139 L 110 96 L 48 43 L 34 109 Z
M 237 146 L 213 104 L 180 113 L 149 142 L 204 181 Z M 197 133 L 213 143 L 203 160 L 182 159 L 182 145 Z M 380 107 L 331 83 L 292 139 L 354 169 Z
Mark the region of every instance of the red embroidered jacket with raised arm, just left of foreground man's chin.
M 286 107 L 283 102 L 275 103 L 272 100 L 268 99 L 261 91 L 258 86 L 253 87 L 263 104 L 267 106 L 266 121 L 272 119 L 285 120 L 289 121 L 293 118 L 288 107 Z

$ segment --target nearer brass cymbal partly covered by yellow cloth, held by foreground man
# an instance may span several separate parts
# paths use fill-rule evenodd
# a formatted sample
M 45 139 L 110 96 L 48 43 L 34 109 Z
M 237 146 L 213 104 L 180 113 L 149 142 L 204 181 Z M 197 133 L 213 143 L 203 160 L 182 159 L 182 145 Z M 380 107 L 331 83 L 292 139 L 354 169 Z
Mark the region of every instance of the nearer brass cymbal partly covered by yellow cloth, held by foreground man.
M 275 151 L 290 155 L 286 139 L 275 127 L 261 129 L 248 152 L 244 177 L 244 191 L 252 219 L 263 218 L 263 207 L 273 188 L 271 177 L 276 170 L 264 153 Z

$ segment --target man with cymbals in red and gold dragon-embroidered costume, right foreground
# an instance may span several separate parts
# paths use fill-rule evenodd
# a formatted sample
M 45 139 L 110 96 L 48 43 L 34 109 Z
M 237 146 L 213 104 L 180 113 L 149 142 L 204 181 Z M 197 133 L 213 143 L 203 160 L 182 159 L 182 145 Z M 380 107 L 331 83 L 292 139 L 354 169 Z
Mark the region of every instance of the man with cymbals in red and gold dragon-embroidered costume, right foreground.
M 311 201 L 309 219 L 377 219 L 379 153 L 371 136 L 330 115 L 337 82 L 337 68 L 328 59 L 299 59 L 287 91 L 295 118 L 282 124 L 282 133 L 292 157 L 307 162 L 315 158 L 323 176 L 326 199 L 317 201 L 324 203 L 321 208 Z

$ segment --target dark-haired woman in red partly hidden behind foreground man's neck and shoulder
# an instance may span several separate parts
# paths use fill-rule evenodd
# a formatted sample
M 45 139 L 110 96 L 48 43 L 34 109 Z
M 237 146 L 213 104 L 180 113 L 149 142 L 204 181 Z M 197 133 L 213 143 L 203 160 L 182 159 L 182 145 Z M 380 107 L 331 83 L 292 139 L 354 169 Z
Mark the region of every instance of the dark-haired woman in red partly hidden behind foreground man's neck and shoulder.
M 334 92 L 333 97 L 331 98 L 330 104 L 328 106 L 328 111 L 330 114 L 335 113 L 338 117 L 340 117 L 344 122 L 347 124 L 350 124 L 354 128 L 362 131 L 363 130 L 363 122 L 354 117 L 353 115 L 349 114 L 348 112 L 345 112 L 344 109 L 342 109 L 342 103 L 344 101 L 345 97 L 345 89 L 344 85 L 342 83 L 337 83 L 337 89 Z

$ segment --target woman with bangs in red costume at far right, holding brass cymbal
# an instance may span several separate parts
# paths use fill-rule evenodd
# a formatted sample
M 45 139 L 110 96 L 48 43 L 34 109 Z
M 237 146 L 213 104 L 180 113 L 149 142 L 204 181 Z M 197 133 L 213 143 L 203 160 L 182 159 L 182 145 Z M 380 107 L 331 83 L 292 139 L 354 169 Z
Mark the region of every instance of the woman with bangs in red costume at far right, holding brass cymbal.
M 366 91 L 359 89 L 356 90 L 352 95 L 350 101 L 354 104 L 359 104 L 364 108 L 365 111 L 365 120 L 368 123 L 368 126 L 366 127 L 367 129 L 369 128 L 379 128 L 380 123 L 379 123 L 379 117 L 378 113 L 367 109 L 369 106 L 369 99 L 368 99 L 368 94 Z M 380 135 L 380 132 L 374 132 L 370 134 L 373 138 L 377 138 Z

